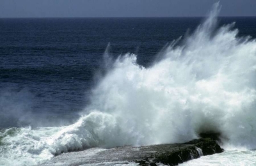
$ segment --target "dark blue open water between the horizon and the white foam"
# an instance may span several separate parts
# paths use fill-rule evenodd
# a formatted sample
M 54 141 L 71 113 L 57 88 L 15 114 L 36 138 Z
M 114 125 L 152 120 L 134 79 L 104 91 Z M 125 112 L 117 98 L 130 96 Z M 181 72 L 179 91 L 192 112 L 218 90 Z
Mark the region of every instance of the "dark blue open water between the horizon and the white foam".
M 0 128 L 76 121 L 102 72 L 102 55 L 131 52 L 148 67 L 164 45 L 192 33 L 202 18 L 0 19 Z M 236 22 L 256 38 L 255 17 Z

